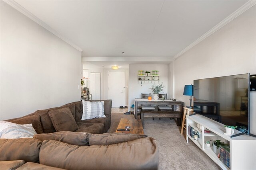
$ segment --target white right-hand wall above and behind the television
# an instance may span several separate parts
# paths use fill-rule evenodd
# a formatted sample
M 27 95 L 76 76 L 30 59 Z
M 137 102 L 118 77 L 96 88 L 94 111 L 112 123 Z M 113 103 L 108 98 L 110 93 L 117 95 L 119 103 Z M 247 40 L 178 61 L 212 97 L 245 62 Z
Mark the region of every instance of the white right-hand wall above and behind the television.
M 186 102 L 185 106 L 189 96 L 183 96 L 184 85 L 193 84 L 193 80 L 256 74 L 256 6 L 178 57 L 174 69 L 175 97 Z M 251 114 L 256 115 L 255 107 L 251 104 Z

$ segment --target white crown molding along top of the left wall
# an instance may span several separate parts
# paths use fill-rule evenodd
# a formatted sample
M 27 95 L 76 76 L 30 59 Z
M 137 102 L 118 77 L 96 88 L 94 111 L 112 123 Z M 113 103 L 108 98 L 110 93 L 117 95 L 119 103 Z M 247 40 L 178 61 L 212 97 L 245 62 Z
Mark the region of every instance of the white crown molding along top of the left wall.
M 21 12 L 22 14 L 24 14 L 25 16 L 27 16 L 28 18 L 30 18 L 31 20 L 35 21 L 36 23 L 38 23 L 39 25 L 41 25 L 42 27 L 44 27 L 45 29 L 47 29 L 48 31 L 50 31 L 51 33 L 53 33 L 54 35 L 56 35 L 57 37 L 59 37 L 60 39 L 62 39 L 63 41 L 65 41 L 66 43 L 68 43 L 69 45 L 71 45 L 72 47 L 74 47 L 75 49 L 77 49 L 78 51 L 83 51 L 83 49 L 81 49 L 80 47 L 78 47 L 78 45 L 76 45 L 75 43 L 73 43 L 72 41 L 70 41 L 68 38 L 64 37 L 63 35 L 61 35 L 60 33 L 58 33 L 57 31 L 55 31 L 52 27 L 50 27 L 49 25 L 47 25 L 46 23 L 44 23 L 42 20 L 40 20 L 39 18 L 37 18 L 36 16 L 34 16 L 31 12 L 29 12 L 28 10 L 26 10 L 25 8 L 23 8 L 22 6 L 20 6 L 20 4 L 18 4 L 17 2 L 15 2 L 14 0 L 3 0 L 6 4 L 12 6 L 14 9 L 18 10 L 19 12 Z

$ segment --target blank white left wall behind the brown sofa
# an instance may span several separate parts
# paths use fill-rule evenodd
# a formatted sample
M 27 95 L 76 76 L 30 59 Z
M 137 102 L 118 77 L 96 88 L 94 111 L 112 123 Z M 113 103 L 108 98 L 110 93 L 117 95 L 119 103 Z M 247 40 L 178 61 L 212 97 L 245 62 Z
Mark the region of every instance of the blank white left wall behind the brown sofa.
M 81 52 L 0 1 L 0 120 L 80 100 Z

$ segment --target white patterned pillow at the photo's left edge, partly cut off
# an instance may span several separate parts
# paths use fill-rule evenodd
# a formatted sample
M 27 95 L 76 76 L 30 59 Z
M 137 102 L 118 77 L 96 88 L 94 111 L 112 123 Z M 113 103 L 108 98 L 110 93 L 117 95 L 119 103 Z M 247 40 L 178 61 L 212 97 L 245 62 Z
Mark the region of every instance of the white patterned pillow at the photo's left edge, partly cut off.
M 8 121 L 0 121 L 1 139 L 18 139 L 22 137 L 33 137 L 37 134 L 32 124 L 19 125 Z

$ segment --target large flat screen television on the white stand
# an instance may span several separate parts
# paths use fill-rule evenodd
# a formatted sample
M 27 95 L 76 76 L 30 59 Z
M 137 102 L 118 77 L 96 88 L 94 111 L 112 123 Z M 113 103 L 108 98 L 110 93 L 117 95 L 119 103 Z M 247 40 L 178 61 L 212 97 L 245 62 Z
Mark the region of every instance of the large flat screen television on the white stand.
M 250 133 L 250 74 L 194 80 L 194 112 Z M 246 128 L 246 130 L 245 130 Z

